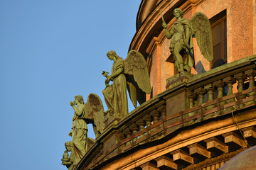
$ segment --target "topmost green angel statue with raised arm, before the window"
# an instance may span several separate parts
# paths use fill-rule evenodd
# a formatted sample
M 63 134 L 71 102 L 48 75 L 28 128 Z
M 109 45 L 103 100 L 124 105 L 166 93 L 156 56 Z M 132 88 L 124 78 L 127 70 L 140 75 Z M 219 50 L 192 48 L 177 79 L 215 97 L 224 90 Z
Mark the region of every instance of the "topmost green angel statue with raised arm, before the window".
M 160 11 L 161 13 L 161 11 Z M 166 38 L 171 39 L 170 51 L 174 55 L 175 67 L 178 72 L 191 73 L 194 67 L 193 55 L 193 37 L 196 38 L 202 55 L 208 60 L 213 60 L 213 42 L 210 28 L 210 21 L 207 16 L 201 12 L 194 13 L 191 21 L 183 18 L 183 12 L 180 8 L 175 8 L 174 16 L 176 21 L 171 30 L 168 30 L 161 14 L 162 26 L 165 29 Z

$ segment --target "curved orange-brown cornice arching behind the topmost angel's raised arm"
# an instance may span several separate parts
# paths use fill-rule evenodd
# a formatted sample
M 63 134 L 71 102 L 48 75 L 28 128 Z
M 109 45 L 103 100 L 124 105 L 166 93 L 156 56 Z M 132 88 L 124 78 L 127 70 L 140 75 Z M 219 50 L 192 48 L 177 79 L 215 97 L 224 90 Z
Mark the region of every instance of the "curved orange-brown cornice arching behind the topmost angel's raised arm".
M 158 37 L 160 42 L 164 38 L 164 29 L 162 28 L 162 21 L 159 9 L 161 9 L 166 23 L 170 28 L 175 19 L 172 14 L 174 8 L 181 8 L 183 13 L 187 13 L 192 6 L 197 6 L 203 0 L 163 0 L 156 1 L 154 4 L 148 4 L 147 1 L 142 1 L 137 15 L 137 32 L 132 39 L 129 50 L 137 50 L 146 57 L 146 48 L 149 46 L 154 37 Z M 144 4 L 145 3 L 145 4 Z M 150 12 L 151 10 L 151 12 Z M 142 15 L 143 14 L 143 15 Z M 144 19 L 142 21 L 142 19 Z M 142 22 L 139 25 L 139 22 Z

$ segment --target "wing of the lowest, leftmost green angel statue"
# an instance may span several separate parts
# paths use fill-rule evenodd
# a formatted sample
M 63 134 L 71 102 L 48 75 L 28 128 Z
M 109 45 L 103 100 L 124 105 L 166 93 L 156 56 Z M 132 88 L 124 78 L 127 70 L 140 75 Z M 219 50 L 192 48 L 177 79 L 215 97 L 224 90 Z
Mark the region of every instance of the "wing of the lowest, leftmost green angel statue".
M 89 94 L 85 103 L 86 123 L 92 123 L 95 136 L 98 137 L 104 130 L 104 108 L 97 94 Z

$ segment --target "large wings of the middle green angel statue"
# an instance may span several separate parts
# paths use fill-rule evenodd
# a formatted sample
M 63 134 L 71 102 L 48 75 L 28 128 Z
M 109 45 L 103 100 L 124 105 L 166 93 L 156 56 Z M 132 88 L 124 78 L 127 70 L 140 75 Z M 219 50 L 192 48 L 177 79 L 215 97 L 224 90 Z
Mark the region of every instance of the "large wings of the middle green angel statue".
M 151 93 L 149 72 L 143 55 L 136 50 L 128 52 L 124 60 L 124 74 L 127 78 L 127 89 L 134 107 L 137 101 L 142 104 L 146 101 L 146 94 Z

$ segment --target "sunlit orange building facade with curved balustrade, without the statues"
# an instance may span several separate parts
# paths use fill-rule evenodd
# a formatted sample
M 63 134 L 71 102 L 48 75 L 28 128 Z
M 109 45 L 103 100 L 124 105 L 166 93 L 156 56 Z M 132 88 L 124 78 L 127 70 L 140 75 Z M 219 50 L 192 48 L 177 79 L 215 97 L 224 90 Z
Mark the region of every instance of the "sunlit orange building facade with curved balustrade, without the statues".
M 178 74 L 159 10 L 167 27 L 201 11 L 210 20 L 213 61 L 193 40 L 192 78 Z M 76 169 L 220 169 L 256 145 L 255 0 L 142 0 L 129 50 L 144 55 L 151 81 L 146 102 L 105 132 Z

